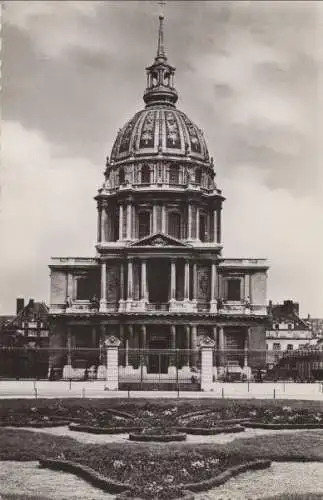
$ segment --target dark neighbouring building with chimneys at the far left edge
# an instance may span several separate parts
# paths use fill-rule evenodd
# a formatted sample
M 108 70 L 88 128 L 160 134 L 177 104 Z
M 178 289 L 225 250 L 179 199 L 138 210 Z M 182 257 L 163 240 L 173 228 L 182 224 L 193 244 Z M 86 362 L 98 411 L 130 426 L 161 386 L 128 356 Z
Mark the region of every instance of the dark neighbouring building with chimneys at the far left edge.
M 39 377 L 48 375 L 48 307 L 30 299 L 25 305 L 17 299 L 16 315 L 2 326 L 0 351 L 1 377 Z

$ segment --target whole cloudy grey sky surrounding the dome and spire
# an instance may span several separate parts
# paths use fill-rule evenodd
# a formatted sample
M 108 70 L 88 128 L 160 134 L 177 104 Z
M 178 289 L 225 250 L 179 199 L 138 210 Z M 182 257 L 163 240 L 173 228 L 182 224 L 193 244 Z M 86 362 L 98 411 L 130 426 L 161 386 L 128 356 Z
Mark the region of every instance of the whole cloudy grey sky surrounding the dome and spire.
M 51 256 L 93 256 L 94 196 L 142 109 L 157 2 L 7 1 L 2 11 L 0 314 L 49 301 Z M 266 257 L 268 299 L 323 317 L 323 3 L 171 1 L 177 107 L 203 129 L 223 255 Z

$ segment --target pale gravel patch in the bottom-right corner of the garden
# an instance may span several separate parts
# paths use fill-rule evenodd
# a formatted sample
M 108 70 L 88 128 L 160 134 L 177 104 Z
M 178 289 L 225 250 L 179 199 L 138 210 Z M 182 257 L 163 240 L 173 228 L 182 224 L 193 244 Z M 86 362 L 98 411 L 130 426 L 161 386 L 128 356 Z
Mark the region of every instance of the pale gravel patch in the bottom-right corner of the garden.
M 269 469 L 246 472 L 223 486 L 195 495 L 195 500 L 258 500 L 283 493 L 322 493 L 320 462 L 273 462 Z

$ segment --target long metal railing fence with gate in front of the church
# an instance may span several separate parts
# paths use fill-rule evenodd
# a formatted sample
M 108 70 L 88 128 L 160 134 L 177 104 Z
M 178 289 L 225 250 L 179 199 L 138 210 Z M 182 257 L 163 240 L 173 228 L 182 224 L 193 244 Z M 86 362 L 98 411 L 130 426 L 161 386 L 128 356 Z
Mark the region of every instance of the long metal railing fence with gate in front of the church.
M 106 364 L 103 345 L 97 348 L 0 347 L 0 378 L 3 380 L 60 380 L 66 378 L 64 367 L 67 365 L 72 367 L 70 378 L 96 380 L 100 378 L 100 367 Z M 254 381 L 323 380 L 323 350 L 213 350 L 215 379 L 243 382 L 246 366 Z M 180 386 L 196 390 L 200 374 L 200 349 L 118 349 L 120 388 L 131 385 L 138 390 L 161 387 L 167 390 Z

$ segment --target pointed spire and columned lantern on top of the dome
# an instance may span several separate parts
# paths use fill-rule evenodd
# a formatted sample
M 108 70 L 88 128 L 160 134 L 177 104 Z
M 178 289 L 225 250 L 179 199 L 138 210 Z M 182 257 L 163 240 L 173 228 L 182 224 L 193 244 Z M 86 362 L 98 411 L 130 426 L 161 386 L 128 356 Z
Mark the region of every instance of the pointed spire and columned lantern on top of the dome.
M 159 15 L 157 54 L 154 63 L 146 68 L 147 88 L 144 93 L 146 106 L 165 104 L 175 106 L 178 99 L 174 88 L 175 68 L 167 62 L 164 48 L 164 15 Z

